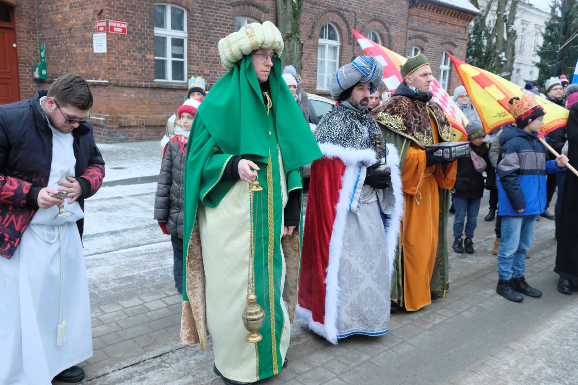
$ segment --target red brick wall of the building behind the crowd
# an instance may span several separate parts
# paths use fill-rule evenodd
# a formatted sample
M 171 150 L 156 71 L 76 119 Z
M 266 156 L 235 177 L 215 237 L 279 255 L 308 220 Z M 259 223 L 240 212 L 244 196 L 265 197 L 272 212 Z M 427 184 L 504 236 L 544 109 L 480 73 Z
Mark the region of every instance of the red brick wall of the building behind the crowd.
M 186 83 L 154 81 L 154 2 L 146 0 L 1 0 L 16 7 L 16 33 L 21 98 L 67 72 L 79 73 L 91 82 L 95 104 L 92 122 L 101 142 L 160 139 L 166 119 L 180 106 Z M 218 56 L 217 42 L 234 32 L 235 17 L 260 22 L 276 21 L 275 0 L 171 0 L 187 10 L 188 76 L 205 77 L 208 88 L 225 70 Z M 466 25 L 471 15 L 441 9 L 424 2 L 409 8 L 407 0 L 306 0 L 302 12 L 304 88 L 316 89 L 318 37 L 325 23 L 339 32 L 339 65 L 361 54 L 351 29 L 366 35 L 379 33 L 382 43 L 407 54 L 418 42 L 439 75 L 442 49 L 465 56 Z M 128 23 L 128 34 L 107 34 L 107 53 L 92 52 L 92 33 L 97 20 Z M 47 81 L 32 79 L 32 65 L 38 62 L 38 46 L 46 44 Z M 288 63 L 284 63 L 288 64 Z M 436 72 L 437 68 L 437 72 Z M 450 87 L 457 85 L 450 75 Z M 455 85 L 454 85 L 455 84 Z

